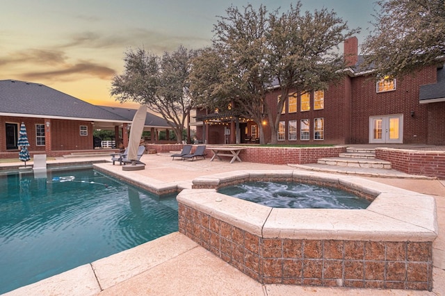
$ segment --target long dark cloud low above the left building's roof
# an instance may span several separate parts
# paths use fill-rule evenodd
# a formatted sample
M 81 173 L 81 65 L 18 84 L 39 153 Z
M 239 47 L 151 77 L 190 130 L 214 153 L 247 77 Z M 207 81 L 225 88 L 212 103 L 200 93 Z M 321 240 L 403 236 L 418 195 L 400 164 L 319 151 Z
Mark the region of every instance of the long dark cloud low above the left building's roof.
M 67 76 L 70 76 L 69 80 L 72 80 L 71 76 L 95 76 L 99 79 L 108 80 L 115 75 L 115 70 L 110 67 L 99 65 L 96 63 L 91 63 L 89 61 L 83 60 L 79 61 L 74 65 L 66 65 L 63 68 L 51 70 L 51 71 L 35 71 L 23 73 L 21 76 L 25 79 L 33 80 L 66 80 Z

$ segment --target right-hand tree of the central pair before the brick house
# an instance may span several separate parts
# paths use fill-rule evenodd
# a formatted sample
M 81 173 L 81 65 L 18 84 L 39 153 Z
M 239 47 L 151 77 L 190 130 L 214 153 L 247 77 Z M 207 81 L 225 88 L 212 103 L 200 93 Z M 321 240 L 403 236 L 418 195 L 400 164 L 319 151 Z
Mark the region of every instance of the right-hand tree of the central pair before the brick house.
M 350 30 L 333 10 L 323 8 L 302 14 L 300 8 L 298 2 L 280 17 L 270 15 L 267 38 L 273 50 L 268 63 L 281 90 L 276 113 L 268 109 L 273 144 L 277 143 L 280 115 L 289 92 L 325 90 L 341 79 L 345 64 L 339 44 L 359 32 L 359 28 Z

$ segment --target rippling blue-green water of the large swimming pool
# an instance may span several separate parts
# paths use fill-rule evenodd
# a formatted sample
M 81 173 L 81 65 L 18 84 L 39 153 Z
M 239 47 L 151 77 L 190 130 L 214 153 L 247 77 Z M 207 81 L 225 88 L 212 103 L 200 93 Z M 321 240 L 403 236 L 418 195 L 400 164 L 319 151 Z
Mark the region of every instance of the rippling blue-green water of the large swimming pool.
M 176 194 L 92 169 L 0 176 L 0 294 L 177 229 Z

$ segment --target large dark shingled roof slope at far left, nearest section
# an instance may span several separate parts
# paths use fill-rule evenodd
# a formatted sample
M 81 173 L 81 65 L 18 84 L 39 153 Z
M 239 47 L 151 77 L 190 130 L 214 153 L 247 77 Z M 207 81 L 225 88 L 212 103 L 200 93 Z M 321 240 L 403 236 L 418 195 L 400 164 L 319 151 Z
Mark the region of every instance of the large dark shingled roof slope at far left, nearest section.
M 54 88 L 15 80 L 0 81 L 0 113 L 127 122 L 116 113 L 110 113 Z

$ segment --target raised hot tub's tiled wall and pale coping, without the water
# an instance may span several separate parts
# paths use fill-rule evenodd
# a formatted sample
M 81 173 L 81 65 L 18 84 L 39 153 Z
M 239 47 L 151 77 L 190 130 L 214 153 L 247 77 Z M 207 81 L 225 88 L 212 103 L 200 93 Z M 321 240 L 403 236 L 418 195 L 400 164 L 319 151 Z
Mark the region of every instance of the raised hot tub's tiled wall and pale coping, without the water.
M 366 209 L 270 208 L 216 192 L 244 181 L 297 181 L 355 192 Z M 356 176 L 238 171 L 179 193 L 179 231 L 261 283 L 432 289 L 435 199 Z

